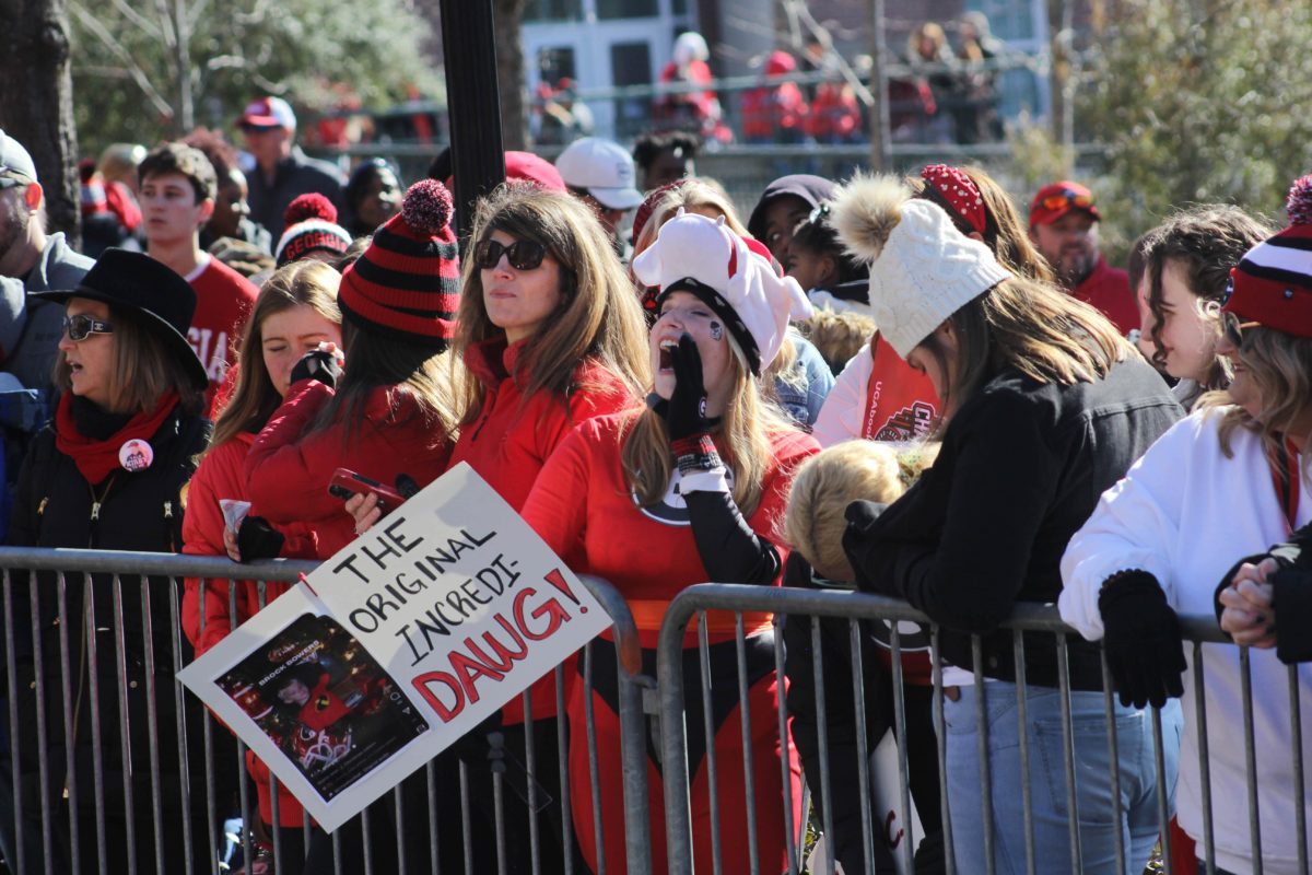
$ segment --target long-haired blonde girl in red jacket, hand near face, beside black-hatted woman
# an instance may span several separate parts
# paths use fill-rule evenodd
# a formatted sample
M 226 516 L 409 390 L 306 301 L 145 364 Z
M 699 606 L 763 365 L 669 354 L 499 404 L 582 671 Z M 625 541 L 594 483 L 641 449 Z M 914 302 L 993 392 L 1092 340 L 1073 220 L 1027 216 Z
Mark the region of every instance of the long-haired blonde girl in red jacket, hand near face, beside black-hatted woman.
M 182 517 L 182 552 L 199 556 L 228 555 L 235 560 L 270 556 L 314 558 L 318 539 L 304 523 L 273 527 L 257 517 L 231 521 L 224 501 L 247 499 L 245 457 L 255 436 L 290 388 L 291 369 L 320 342 L 341 342 L 341 311 L 337 285 L 341 275 L 328 265 L 304 261 L 278 270 L 264 283 L 239 346 L 243 356 L 235 388 L 218 421 L 210 447 L 192 476 L 186 513 Z M 188 579 L 182 597 L 182 631 L 202 656 L 239 624 L 289 589 L 269 582 L 261 600 L 251 580 L 236 585 L 236 615 L 230 615 L 230 581 L 213 577 Z M 269 767 L 247 752 L 247 769 L 260 798 L 260 819 L 272 834 L 274 821 Z M 283 838 L 300 837 L 304 809 L 286 787 L 278 784 L 278 816 Z M 304 853 L 283 850 L 286 861 Z M 310 870 L 307 870 L 310 871 Z

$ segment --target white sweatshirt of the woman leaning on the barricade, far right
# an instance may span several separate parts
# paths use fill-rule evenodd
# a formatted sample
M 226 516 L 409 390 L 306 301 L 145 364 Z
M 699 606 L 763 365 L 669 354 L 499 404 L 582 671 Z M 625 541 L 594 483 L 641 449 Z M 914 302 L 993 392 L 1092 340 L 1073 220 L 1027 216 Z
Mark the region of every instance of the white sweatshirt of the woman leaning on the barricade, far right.
M 1181 614 L 1215 615 L 1214 593 L 1221 575 L 1241 558 L 1265 551 L 1288 535 L 1270 468 L 1257 434 L 1236 429 L 1233 458 L 1220 450 L 1219 411 L 1202 411 L 1161 437 L 1098 502 L 1071 539 L 1061 559 L 1061 618 L 1089 640 L 1102 638 L 1098 590 L 1122 569 L 1141 568 L 1161 584 Z M 1303 479 L 1298 525 L 1312 517 L 1312 483 Z M 1211 767 L 1212 829 L 1216 865 L 1252 871 L 1240 648 L 1202 648 Z M 1185 735 L 1179 750 L 1176 805 L 1179 824 L 1199 842 L 1203 857 L 1199 725 L 1194 706 L 1193 645 L 1185 644 Z M 1288 668 L 1274 649 L 1250 651 L 1253 724 L 1257 750 L 1262 863 L 1267 872 L 1298 871 L 1298 808 L 1292 775 Z M 1303 817 L 1312 834 L 1312 665 L 1298 666 L 1304 770 Z

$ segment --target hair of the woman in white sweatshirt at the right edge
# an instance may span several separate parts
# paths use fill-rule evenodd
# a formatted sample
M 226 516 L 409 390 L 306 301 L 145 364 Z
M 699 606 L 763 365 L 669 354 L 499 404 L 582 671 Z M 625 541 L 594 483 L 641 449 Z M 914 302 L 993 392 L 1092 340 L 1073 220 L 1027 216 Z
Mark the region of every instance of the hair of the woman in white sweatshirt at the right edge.
M 1194 408 L 1221 408 L 1219 430 L 1225 458 L 1233 458 L 1231 437 L 1235 429 L 1261 436 L 1267 458 L 1273 459 L 1286 436 L 1303 438 L 1303 446 L 1309 446 L 1312 434 L 1292 432 L 1312 408 L 1312 337 L 1295 337 L 1274 328 L 1248 328 L 1239 357 L 1262 399 L 1261 415 L 1254 417 L 1236 404 L 1227 390 L 1203 395 Z M 1308 455 L 1299 454 L 1305 470 Z

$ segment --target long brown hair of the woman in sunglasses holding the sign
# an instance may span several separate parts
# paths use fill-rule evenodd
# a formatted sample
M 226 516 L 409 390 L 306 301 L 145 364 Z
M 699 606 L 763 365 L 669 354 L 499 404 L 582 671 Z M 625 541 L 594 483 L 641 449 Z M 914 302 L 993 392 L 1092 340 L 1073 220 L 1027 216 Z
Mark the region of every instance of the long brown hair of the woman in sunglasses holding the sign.
M 560 265 L 560 306 L 525 341 L 513 375 L 522 396 L 544 391 L 565 403 L 577 388 L 575 371 L 584 359 L 597 362 L 636 396 L 651 382 L 647 323 L 596 214 L 564 192 L 505 184 L 479 201 L 470 240 L 476 244 L 492 231 L 538 243 Z M 505 335 L 488 316 L 482 270 L 472 257 L 462 270 L 458 319 L 457 359 L 470 346 Z M 483 383 L 466 379 L 462 424 L 478 417 L 483 399 Z

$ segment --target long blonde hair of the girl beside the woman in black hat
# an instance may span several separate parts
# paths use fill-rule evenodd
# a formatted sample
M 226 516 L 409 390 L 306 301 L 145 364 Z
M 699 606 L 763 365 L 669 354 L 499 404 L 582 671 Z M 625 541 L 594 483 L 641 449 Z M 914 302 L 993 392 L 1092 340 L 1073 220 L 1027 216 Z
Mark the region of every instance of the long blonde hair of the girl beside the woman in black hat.
M 295 261 L 264 282 L 236 344 L 240 362 L 237 384 L 214 422 L 210 449 L 231 441 L 240 432 L 264 428 L 282 401 L 264 365 L 264 321 L 304 306 L 341 325 L 341 310 L 337 307 L 340 283 L 341 274 L 321 261 Z

